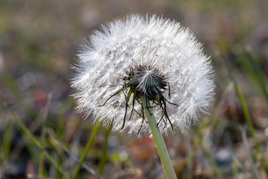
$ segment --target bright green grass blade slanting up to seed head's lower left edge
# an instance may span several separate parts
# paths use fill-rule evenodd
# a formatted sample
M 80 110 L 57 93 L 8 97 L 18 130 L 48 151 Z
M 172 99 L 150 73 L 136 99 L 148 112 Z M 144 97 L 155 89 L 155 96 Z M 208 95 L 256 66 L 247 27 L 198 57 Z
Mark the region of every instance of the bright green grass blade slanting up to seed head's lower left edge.
M 98 130 L 98 126 L 99 126 L 99 125 L 98 125 L 98 122 L 96 122 L 96 123 L 95 123 L 95 126 L 94 126 L 94 128 L 93 128 L 93 130 L 92 130 L 92 132 L 91 132 L 90 138 L 89 138 L 89 140 L 87 141 L 87 144 L 86 144 L 86 146 L 85 146 L 85 148 L 84 148 L 84 151 L 83 151 L 83 153 L 82 153 L 82 155 L 81 155 L 81 157 L 80 157 L 79 163 L 77 164 L 77 166 L 76 166 L 76 168 L 75 168 L 75 170 L 74 170 L 74 173 L 72 174 L 71 179 L 76 179 L 77 174 L 78 174 L 78 172 L 79 172 L 79 170 L 80 170 L 80 168 L 81 168 L 81 165 L 82 165 L 83 161 L 84 161 L 85 158 L 86 158 L 87 152 L 88 152 L 88 150 L 89 150 L 89 148 L 90 148 L 90 146 L 91 146 L 91 144 L 92 144 L 92 141 L 93 141 L 93 139 L 94 139 L 94 137 L 95 137 L 95 134 L 96 134 L 96 132 L 97 132 L 97 130 Z

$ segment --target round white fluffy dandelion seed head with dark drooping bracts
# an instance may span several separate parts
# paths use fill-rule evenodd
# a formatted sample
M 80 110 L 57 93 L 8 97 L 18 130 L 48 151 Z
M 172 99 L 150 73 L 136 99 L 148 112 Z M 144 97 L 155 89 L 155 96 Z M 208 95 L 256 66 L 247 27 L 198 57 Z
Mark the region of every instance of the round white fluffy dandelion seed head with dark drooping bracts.
M 163 104 L 152 108 L 162 134 L 198 122 L 213 99 L 210 58 L 176 21 L 138 14 L 115 19 L 94 31 L 81 47 L 71 82 L 77 110 L 104 126 L 113 124 L 114 131 L 150 135 L 139 100 L 143 94 L 151 96 L 152 105 L 159 95 L 168 101 L 168 118 Z

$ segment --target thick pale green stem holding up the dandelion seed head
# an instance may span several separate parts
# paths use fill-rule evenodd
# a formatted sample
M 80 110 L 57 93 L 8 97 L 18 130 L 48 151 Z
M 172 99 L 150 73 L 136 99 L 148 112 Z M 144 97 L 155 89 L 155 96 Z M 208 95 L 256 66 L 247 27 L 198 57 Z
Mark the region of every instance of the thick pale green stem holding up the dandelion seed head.
M 154 114 L 153 114 L 152 110 L 149 111 L 149 109 L 151 109 L 151 108 L 149 108 L 151 106 L 149 99 L 146 100 L 146 96 L 143 95 L 143 96 L 141 96 L 141 102 L 142 102 L 142 105 L 143 105 L 143 108 L 145 111 L 145 115 L 146 115 L 149 127 L 151 129 L 153 140 L 154 140 L 158 155 L 160 157 L 163 169 L 165 171 L 166 177 L 167 177 L 167 179 L 177 179 L 176 174 L 175 174 L 174 169 L 173 169 L 173 166 L 171 164 L 171 160 L 170 160 L 168 152 L 167 152 L 165 142 L 164 142 L 163 137 L 158 129 Z

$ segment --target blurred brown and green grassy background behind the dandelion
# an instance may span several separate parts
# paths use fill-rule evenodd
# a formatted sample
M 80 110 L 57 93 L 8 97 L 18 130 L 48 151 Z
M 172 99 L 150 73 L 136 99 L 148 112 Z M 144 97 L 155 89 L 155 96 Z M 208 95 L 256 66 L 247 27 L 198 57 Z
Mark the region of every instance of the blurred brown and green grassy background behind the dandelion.
M 79 44 L 113 18 L 147 12 L 189 27 L 215 70 L 210 115 L 165 137 L 178 178 L 268 178 L 267 0 L 1 0 L 0 178 L 72 176 L 93 129 L 70 96 Z M 152 139 L 108 134 L 98 128 L 84 161 L 90 169 L 105 179 L 165 178 Z M 48 157 L 40 162 L 31 135 L 62 173 Z M 97 177 L 81 168 L 77 178 Z

